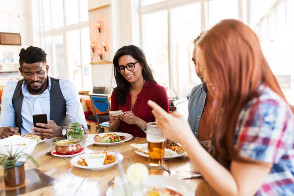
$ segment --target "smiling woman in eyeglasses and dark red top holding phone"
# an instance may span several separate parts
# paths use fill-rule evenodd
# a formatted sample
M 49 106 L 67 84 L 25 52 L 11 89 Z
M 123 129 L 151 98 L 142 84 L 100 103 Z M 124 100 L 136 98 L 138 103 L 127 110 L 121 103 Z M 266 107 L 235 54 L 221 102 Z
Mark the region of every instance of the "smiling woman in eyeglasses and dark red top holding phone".
M 123 110 L 120 116 L 109 115 L 109 128 L 134 137 L 146 137 L 147 123 L 154 122 L 147 101 L 153 100 L 169 111 L 169 99 L 163 86 L 156 83 L 142 49 L 134 45 L 119 49 L 113 58 L 117 87 L 111 96 L 111 110 Z

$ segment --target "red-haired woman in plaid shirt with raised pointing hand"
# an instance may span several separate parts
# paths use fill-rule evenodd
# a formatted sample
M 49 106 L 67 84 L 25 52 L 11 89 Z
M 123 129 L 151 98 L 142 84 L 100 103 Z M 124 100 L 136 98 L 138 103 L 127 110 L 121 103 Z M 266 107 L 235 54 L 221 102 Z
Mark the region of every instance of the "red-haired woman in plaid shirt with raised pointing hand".
M 294 195 L 294 110 L 257 36 L 242 22 L 229 19 L 197 44 L 204 81 L 215 97 L 208 122 L 211 153 L 200 146 L 184 119 L 149 101 L 163 135 L 183 145 L 221 195 Z

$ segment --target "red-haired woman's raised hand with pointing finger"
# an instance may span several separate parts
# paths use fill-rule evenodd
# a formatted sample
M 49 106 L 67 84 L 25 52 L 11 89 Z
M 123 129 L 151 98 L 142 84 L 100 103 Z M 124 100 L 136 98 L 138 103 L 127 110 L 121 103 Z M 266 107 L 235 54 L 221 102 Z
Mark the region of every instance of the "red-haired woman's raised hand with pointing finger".
M 183 143 L 185 138 L 195 137 L 189 123 L 183 116 L 177 112 L 173 112 L 171 115 L 151 100 L 148 101 L 148 105 L 153 109 L 152 114 L 156 119 L 157 127 L 165 138 Z

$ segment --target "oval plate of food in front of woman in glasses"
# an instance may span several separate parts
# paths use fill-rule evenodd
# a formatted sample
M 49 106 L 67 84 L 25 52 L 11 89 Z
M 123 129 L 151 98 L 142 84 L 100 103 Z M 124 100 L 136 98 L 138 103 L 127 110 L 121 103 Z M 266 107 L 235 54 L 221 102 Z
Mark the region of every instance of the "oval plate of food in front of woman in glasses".
M 114 146 L 129 141 L 132 138 L 133 136 L 128 133 L 113 132 L 89 135 L 86 141 L 100 146 Z

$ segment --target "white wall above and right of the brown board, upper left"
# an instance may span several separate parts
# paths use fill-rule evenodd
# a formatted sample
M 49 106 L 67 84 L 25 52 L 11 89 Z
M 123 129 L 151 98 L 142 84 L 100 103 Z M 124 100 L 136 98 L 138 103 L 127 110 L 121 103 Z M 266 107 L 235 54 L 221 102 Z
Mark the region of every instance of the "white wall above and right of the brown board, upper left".
M 0 32 L 21 33 L 22 46 L 30 46 L 31 26 L 31 0 L 0 0 Z

